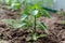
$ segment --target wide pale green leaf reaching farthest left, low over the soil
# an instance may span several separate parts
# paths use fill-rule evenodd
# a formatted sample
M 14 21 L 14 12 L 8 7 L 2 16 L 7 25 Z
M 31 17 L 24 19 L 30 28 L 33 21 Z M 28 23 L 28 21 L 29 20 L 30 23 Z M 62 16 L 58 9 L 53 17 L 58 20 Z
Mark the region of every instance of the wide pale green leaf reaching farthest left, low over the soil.
M 2 19 L 1 22 L 4 22 L 5 24 L 8 24 L 10 27 L 12 28 L 22 28 L 23 26 L 25 26 L 25 23 L 22 23 L 20 19 Z

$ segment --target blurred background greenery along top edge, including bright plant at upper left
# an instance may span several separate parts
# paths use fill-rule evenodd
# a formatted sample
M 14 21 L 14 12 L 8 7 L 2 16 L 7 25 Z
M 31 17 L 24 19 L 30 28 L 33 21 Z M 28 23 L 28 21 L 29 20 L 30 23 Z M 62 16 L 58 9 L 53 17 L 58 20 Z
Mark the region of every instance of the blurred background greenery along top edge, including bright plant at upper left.
M 42 6 L 52 8 L 54 0 L 0 0 L 3 4 L 8 4 L 11 9 L 17 10 L 20 5 L 24 5 L 23 3 L 35 4 L 38 2 Z

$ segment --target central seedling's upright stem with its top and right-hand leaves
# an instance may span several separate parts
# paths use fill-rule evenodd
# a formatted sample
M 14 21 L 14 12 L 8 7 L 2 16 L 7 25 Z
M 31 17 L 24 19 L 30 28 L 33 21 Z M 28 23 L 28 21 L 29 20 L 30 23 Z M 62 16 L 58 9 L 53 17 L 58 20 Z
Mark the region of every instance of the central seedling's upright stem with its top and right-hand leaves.
M 29 11 L 27 11 L 27 12 L 29 12 L 29 15 L 31 15 L 34 17 L 34 23 L 32 23 L 34 24 L 34 32 L 32 32 L 32 39 L 31 40 L 37 41 L 38 38 L 46 37 L 44 34 L 38 35 L 38 33 L 36 33 L 36 31 L 37 31 L 37 25 L 39 25 L 40 27 L 42 27 L 43 30 L 47 30 L 46 24 L 44 23 L 41 23 L 41 22 L 38 22 L 37 18 L 41 17 L 42 12 L 44 13 L 43 14 L 44 16 L 48 16 L 48 17 L 51 17 L 51 16 L 38 3 L 34 4 L 28 10 Z

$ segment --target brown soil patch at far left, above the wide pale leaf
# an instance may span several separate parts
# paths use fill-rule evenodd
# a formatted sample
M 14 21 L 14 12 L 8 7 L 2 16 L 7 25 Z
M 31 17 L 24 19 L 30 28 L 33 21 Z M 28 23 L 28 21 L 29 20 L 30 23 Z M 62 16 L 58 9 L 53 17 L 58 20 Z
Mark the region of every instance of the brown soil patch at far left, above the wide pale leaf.
M 12 11 L 0 4 L 0 19 L 16 19 L 20 18 L 21 11 Z

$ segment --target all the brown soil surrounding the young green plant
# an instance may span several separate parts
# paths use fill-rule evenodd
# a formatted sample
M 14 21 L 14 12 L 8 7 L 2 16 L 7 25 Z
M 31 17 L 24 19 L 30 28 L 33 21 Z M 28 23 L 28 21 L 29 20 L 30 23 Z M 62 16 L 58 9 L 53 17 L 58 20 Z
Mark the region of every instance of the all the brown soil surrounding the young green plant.
M 20 11 L 11 11 L 0 5 L 0 20 L 1 19 L 18 19 L 21 17 Z M 49 34 L 44 38 L 40 38 L 35 43 L 65 43 L 65 24 L 61 24 L 65 20 L 65 16 L 55 13 L 50 13 L 52 18 L 41 17 L 39 20 L 44 22 L 48 25 Z M 37 33 L 44 31 L 38 30 Z M 46 33 L 47 34 L 47 33 Z M 9 27 L 3 22 L 0 22 L 0 43 L 31 43 L 26 42 L 26 38 L 31 35 L 27 29 L 14 29 Z

